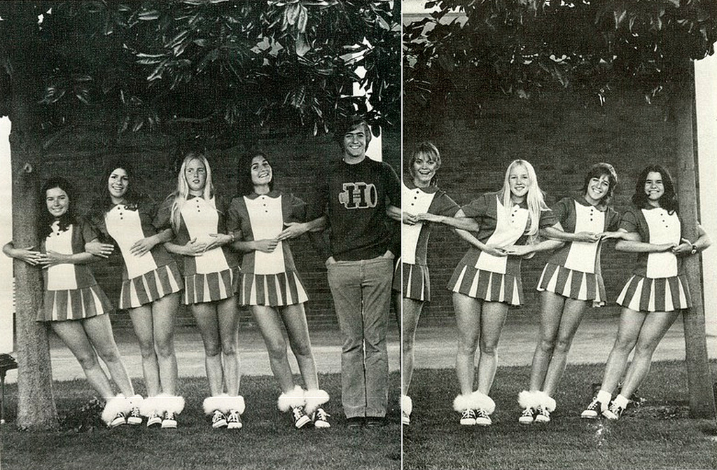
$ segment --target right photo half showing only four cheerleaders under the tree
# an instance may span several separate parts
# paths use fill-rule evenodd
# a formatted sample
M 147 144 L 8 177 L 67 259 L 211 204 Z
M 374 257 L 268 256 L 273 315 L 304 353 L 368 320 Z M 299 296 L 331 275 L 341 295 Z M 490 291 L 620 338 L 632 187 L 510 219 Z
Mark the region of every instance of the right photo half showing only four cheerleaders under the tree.
M 403 468 L 716 468 L 716 6 L 402 17 Z

